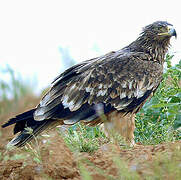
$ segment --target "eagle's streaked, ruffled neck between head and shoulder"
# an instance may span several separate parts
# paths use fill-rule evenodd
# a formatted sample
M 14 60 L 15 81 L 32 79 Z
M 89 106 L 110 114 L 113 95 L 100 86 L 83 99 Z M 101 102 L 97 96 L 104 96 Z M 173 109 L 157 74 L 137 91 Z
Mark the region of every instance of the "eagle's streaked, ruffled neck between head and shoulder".
M 127 48 L 131 52 L 144 52 L 148 54 L 148 60 L 157 62 L 159 64 L 164 63 L 165 55 L 168 51 L 170 39 L 157 41 L 151 38 L 145 38 L 140 36 L 136 41 L 132 42 Z

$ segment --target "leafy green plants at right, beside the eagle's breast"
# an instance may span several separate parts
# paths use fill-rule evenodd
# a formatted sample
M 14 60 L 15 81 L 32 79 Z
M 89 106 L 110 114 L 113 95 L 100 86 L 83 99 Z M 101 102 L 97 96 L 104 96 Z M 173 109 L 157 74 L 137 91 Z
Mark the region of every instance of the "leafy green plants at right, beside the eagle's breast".
M 163 81 L 150 101 L 137 114 L 136 141 L 144 144 L 181 139 L 181 61 L 172 66 L 166 57 Z

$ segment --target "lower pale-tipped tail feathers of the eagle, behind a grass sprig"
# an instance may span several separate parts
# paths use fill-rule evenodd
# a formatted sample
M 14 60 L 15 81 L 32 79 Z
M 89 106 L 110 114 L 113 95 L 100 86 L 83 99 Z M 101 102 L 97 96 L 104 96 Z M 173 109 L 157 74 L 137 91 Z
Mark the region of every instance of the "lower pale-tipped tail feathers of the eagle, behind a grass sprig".
M 7 146 L 17 146 L 22 147 L 27 142 L 31 141 L 35 136 L 40 134 L 43 130 L 47 129 L 52 123 L 55 121 L 52 120 L 44 120 L 39 121 L 35 126 L 30 127 L 30 129 L 25 128 L 18 136 L 13 138 Z

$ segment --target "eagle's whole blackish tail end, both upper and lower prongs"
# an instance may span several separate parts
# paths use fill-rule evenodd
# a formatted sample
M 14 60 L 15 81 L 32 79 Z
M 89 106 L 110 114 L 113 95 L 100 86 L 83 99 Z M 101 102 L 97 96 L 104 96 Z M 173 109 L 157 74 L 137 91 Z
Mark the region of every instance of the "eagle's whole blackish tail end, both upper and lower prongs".
M 16 116 L 15 118 L 10 119 L 7 123 L 2 125 L 2 128 L 5 128 L 9 125 L 15 124 L 14 134 L 20 132 L 8 143 L 7 146 L 22 147 L 55 122 L 54 120 L 50 119 L 35 121 L 33 118 L 34 112 L 35 109 L 24 112 Z

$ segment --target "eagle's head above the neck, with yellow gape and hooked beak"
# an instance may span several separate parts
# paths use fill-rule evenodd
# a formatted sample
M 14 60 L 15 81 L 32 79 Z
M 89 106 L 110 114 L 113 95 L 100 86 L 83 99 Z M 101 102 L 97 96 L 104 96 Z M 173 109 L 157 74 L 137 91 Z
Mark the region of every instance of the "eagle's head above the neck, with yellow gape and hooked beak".
M 156 21 L 143 28 L 142 36 L 154 41 L 169 41 L 172 36 L 177 37 L 173 25 L 166 21 Z

